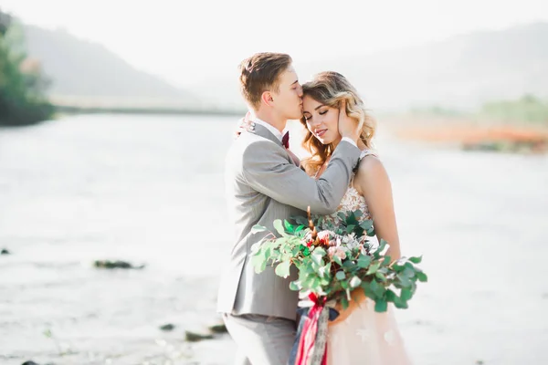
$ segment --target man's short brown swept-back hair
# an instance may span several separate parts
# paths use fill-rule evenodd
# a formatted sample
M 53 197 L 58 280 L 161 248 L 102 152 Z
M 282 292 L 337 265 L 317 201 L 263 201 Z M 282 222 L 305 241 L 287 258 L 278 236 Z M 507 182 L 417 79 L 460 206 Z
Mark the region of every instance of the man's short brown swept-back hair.
M 285 53 L 262 52 L 240 63 L 240 90 L 251 107 L 258 109 L 263 92 L 279 91 L 278 77 L 291 62 L 290 55 Z

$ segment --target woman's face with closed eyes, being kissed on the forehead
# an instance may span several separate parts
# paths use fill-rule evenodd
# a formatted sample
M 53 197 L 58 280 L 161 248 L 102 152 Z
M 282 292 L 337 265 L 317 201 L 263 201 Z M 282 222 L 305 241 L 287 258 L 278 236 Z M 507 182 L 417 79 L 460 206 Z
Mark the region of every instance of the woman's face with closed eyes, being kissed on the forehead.
M 321 144 L 341 141 L 339 134 L 339 110 L 321 104 L 309 97 L 302 99 L 302 114 L 306 118 L 306 127 Z

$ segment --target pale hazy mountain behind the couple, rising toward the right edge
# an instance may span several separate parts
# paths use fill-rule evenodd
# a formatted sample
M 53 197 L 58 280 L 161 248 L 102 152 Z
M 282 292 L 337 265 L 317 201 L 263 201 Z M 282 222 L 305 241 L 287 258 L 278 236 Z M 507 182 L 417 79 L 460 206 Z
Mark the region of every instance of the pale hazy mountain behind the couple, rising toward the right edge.
M 473 109 L 525 93 L 548 98 L 547 45 L 548 23 L 536 23 L 346 59 L 333 54 L 332 60 L 299 62 L 297 70 L 303 81 L 322 70 L 342 73 L 374 110 L 433 105 Z M 241 103 L 236 75 L 210 82 L 216 88 L 203 82 L 208 90 L 204 97 Z

